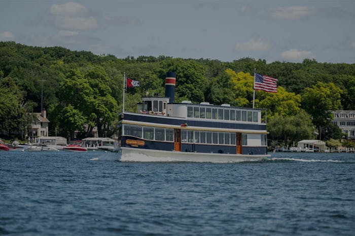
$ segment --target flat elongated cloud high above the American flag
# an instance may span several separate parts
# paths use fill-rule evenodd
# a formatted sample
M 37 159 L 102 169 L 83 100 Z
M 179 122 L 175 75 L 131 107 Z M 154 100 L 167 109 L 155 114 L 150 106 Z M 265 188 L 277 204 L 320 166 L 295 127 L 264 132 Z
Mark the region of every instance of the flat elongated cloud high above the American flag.
M 273 19 L 298 20 L 312 16 L 316 11 L 310 7 L 277 7 L 270 8 L 269 13 Z

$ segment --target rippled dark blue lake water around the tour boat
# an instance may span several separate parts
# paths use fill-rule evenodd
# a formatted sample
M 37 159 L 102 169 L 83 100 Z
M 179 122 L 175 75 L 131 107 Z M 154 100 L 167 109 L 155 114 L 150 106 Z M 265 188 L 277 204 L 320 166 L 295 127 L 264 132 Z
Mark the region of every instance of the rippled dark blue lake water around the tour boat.
M 0 234 L 354 235 L 355 154 L 123 163 L 0 152 Z

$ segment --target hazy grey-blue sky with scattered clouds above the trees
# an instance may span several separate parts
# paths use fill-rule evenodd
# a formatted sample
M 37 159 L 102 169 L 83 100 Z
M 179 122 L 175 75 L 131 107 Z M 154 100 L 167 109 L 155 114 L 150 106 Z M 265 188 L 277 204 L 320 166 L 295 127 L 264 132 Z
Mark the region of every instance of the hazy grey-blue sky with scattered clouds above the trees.
M 96 55 L 355 63 L 355 0 L 0 0 L 0 41 Z

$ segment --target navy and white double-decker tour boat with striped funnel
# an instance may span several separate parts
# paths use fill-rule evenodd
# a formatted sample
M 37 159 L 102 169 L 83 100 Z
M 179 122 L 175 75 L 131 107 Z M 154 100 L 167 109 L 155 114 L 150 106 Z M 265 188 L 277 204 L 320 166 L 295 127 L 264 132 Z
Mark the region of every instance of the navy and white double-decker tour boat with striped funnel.
M 175 81 L 176 74 L 168 72 L 165 97 L 142 97 L 136 113 L 123 105 L 119 160 L 238 162 L 270 156 L 266 109 L 174 103 Z

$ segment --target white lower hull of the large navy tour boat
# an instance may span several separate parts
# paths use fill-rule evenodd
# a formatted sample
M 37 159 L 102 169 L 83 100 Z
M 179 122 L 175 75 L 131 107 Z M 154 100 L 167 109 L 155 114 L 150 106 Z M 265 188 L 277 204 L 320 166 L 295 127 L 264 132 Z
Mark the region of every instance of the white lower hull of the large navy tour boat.
M 136 149 L 122 147 L 118 150 L 119 160 L 127 162 L 216 162 L 231 163 L 242 161 L 261 161 L 270 155 L 242 155 L 219 153 L 190 153 Z

